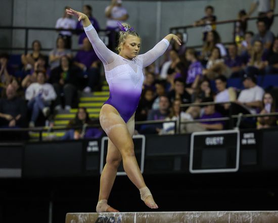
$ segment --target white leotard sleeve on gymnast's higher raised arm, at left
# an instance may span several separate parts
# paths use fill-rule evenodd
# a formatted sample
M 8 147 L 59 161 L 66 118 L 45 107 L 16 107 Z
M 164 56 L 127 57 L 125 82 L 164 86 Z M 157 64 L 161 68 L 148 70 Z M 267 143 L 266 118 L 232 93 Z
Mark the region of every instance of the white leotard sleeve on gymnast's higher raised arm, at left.
M 117 54 L 106 47 L 95 28 L 90 24 L 89 26 L 84 27 L 84 31 L 92 45 L 92 48 L 94 48 L 103 64 L 107 65 L 112 63 L 116 59 Z

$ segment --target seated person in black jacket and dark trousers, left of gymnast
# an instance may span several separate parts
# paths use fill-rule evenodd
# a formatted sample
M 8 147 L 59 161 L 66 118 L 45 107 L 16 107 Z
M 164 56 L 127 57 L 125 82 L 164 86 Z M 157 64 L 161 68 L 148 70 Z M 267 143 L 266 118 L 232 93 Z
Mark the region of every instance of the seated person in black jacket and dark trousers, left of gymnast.
M 61 57 L 60 65 L 51 71 L 50 83 L 53 84 L 57 98 L 54 102 L 55 110 L 62 109 L 61 94 L 65 97 L 65 109 L 70 110 L 73 105 L 74 95 L 78 87 L 78 67 L 72 65 L 71 60 L 66 56 Z

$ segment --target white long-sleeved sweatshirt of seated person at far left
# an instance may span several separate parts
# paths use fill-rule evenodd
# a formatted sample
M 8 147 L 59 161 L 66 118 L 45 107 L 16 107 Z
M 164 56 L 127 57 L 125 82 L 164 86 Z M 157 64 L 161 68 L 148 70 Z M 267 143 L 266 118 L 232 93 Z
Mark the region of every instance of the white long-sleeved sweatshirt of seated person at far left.
M 38 83 L 32 83 L 25 92 L 25 99 L 31 100 L 32 98 L 38 96 L 41 94 L 41 97 L 45 101 L 52 101 L 55 100 L 57 95 L 56 92 L 51 84 L 44 83 L 44 84 L 38 84 Z

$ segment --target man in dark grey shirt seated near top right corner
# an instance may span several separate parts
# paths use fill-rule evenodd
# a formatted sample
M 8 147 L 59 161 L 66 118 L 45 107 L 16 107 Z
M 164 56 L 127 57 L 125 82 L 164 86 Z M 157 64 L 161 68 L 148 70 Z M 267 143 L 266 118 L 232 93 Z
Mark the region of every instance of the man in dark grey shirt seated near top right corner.
M 257 29 L 258 33 L 253 37 L 252 45 L 254 45 L 256 41 L 261 41 L 264 49 L 270 49 L 274 40 L 274 35 L 271 31 L 267 30 L 265 21 L 258 20 Z

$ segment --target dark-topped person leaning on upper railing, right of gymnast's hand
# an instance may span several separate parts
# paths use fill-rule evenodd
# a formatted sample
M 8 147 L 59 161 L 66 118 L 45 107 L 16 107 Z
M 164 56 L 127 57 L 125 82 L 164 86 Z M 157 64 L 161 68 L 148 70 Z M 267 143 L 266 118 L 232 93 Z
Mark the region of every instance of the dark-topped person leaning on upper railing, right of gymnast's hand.
M 201 26 L 206 24 L 206 26 L 204 26 L 203 29 L 203 41 L 206 40 L 208 32 L 216 29 L 216 25 L 214 24 L 216 22 L 216 16 L 213 15 L 213 13 L 214 13 L 214 8 L 212 6 L 206 6 L 205 8 L 206 16 L 196 21 L 193 24 L 194 26 Z

